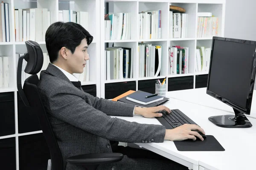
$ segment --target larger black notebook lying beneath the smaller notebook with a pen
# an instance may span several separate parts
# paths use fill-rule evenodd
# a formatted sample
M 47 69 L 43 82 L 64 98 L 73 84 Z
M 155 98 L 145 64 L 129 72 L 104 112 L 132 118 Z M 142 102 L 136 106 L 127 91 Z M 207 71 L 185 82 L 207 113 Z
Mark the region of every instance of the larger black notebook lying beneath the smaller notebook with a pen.
M 137 93 L 137 94 L 136 94 Z M 135 94 L 135 95 L 134 95 Z M 129 104 L 132 104 L 132 105 L 137 105 L 137 106 L 141 106 L 141 107 L 145 107 L 145 108 L 149 108 L 149 107 L 155 107 L 155 106 L 158 106 L 158 105 L 162 105 L 163 103 L 167 102 L 169 100 L 168 97 L 163 97 L 163 96 L 157 96 L 157 98 L 161 99 L 160 101 L 157 101 L 157 102 L 153 102 L 153 103 L 150 103 L 150 104 L 147 104 L 147 105 L 143 105 L 141 103 L 138 103 L 138 102 L 133 102 L 131 100 L 128 100 L 126 97 L 129 97 L 129 96 L 139 96 L 140 98 L 143 98 L 145 99 L 145 96 L 148 96 L 148 95 L 151 95 L 151 93 L 147 93 L 147 92 L 144 92 L 144 91 L 136 91 L 132 94 L 129 94 L 128 96 L 124 96 L 122 97 L 121 99 L 118 99 L 117 101 L 119 102 L 125 102 L 125 103 L 129 103 Z M 156 96 L 154 96 L 156 97 Z M 154 97 L 152 97 L 152 99 L 154 99 Z M 151 97 L 150 97 L 151 98 Z M 148 99 L 150 99 L 148 98 Z M 138 98 L 137 98 L 138 99 Z

